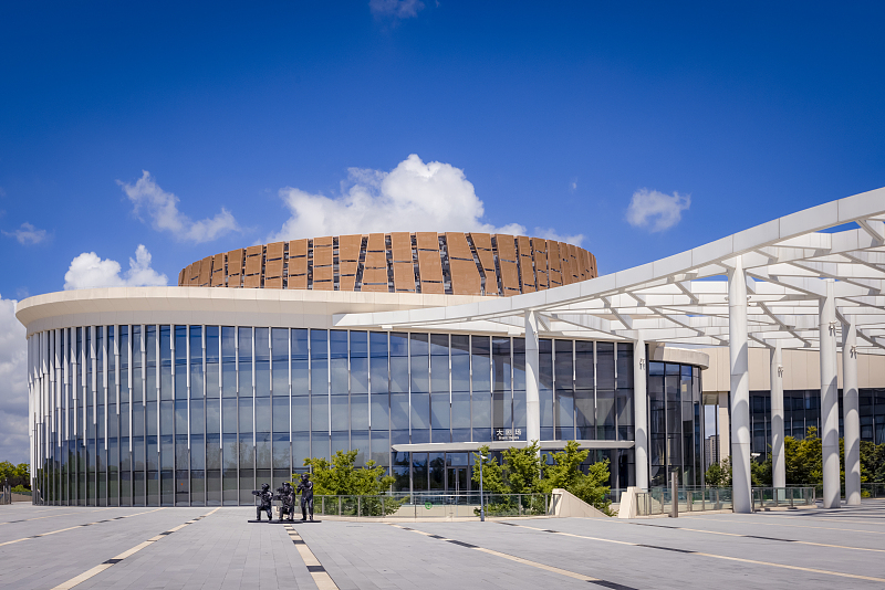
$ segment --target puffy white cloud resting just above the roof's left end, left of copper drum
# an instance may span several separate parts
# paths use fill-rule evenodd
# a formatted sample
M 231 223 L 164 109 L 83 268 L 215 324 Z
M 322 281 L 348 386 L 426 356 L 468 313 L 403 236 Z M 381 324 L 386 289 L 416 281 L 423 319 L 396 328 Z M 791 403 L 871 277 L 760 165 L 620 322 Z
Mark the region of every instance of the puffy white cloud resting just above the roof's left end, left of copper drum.
M 102 260 L 95 252 L 83 252 L 71 261 L 64 273 L 64 289 L 93 287 L 162 287 L 168 283 L 165 274 L 150 267 L 150 253 L 138 244 L 135 260 L 129 259 L 129 270 L 122 276 L 115 260 Z

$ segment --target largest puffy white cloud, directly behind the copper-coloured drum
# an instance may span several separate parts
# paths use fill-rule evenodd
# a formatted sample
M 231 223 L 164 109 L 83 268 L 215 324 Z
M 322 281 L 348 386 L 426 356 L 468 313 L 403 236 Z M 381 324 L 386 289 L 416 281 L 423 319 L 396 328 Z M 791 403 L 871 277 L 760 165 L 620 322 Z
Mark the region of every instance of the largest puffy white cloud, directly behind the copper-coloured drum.
M 341 194 L 324 197 L 287 187 L 280 197 L 292 213 L 273 242 L 317 235 L 392 231 L 462 231 L 525 234 L 510 223 L 485 223 L 482 201 L 464 170 L 413 154 L 389 172 L 351 168 Z

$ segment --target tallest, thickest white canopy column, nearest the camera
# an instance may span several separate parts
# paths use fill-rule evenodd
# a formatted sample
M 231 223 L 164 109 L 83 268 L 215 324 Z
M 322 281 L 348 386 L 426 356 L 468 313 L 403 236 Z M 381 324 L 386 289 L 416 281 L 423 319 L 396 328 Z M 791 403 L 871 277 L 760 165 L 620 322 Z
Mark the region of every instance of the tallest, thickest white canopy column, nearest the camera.
M 731 491 L 736 513 L 752 512 L 750 480 L 750 369 L 743 261 L 728 275 L 728 357 L 731 372 Z

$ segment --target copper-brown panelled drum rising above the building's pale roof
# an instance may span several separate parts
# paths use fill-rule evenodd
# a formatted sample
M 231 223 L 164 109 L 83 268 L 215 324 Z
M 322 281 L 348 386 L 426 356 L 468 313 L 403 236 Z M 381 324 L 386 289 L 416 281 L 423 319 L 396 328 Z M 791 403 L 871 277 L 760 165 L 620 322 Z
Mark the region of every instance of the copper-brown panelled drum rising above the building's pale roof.
M 179 286 L 510 296 L 597 276 L 596 257 L 524 235 L 393 232 L 274 242 L 207 256 Z

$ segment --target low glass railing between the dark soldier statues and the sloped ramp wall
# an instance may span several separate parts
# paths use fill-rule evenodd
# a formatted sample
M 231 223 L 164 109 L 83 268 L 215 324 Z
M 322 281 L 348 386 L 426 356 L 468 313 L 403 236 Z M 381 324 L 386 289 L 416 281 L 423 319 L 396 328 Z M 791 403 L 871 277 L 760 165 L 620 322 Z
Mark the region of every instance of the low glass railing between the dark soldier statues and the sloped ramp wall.
M 483 494 L 486 516 L 543 516 L 549 494 Z M 315 496 L 314 514 L 384 518 L 479 518 L 479 492 L 467 494 L 393 493 L 378 496 Z M 300 505 L 295 506 L 295 513 Z

